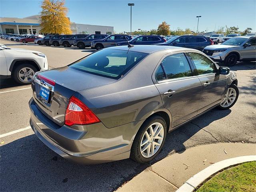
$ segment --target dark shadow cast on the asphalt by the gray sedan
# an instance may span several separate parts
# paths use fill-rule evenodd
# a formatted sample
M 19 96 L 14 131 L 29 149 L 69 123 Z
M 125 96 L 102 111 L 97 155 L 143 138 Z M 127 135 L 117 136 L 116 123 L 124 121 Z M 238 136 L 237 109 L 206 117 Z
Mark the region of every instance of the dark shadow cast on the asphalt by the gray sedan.
M 166 137 L 157 162 L 169 154 L 188 147 L 217 142 L 208 132 L 194 135 L 231 110 L 211 110 L 196 120 L 174 130 Z M 205 134 L 205 135 L 204 135 Z M 186 144 L 185 144 L 186 143 Z M 190 144 L 191 143 L 191 144 Z M 186 146 L 185 146 L 186 145 Z M 96 165 L 78 165 L 58 156 L 35 134 L 1 146 L 0 191 L 113 191 L 146 169 L 150 164 L 138 164 L 126 159 Z

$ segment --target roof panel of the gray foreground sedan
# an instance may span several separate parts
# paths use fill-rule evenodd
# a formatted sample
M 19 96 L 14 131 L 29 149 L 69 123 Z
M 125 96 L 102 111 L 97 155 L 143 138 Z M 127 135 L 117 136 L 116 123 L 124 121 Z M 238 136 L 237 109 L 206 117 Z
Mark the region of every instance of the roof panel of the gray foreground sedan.
M 105 49 L 135 51 L 135 52 L 148 53 L 148 54 L 156 51 L 161 51 L 161 50 L 173 50 L 173 52 L 184 51 L 184 50 L 194 50 L 194 49 L 188 49 L 184 47 L 174 47 L 174 46 L 164 46 L 164 45 L 135 45 L 130 48 L 127 45 L 125 45 L 125 46 L 109 47 Z

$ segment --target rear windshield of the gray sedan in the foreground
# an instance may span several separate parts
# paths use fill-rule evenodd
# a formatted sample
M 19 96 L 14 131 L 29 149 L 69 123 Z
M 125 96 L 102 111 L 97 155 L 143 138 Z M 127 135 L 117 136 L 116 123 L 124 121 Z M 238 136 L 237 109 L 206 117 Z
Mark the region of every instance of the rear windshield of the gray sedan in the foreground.
M 83 72 L 119 79 L 147 55 L 134 51 L 103 49 L 69 66 Z

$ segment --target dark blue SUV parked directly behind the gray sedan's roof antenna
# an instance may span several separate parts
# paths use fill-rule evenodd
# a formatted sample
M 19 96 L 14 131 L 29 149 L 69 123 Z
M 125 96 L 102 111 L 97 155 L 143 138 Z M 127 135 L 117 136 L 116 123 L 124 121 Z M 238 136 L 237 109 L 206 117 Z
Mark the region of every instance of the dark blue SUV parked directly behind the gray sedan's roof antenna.
M 156 43 L 166 42 L 164 38 L 159 35 L 141 35 L 129 41 L 132 45 L 152 45 Z M 116 46 L 128 45 L 127 41 L 117 42 Z

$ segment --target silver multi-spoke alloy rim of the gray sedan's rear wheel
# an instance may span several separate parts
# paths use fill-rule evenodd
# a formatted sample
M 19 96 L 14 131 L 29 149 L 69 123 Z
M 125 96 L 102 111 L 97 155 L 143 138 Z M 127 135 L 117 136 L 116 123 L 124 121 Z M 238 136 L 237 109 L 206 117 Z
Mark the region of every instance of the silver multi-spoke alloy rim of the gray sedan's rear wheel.
M 158 152 L 164 140 L 164 127 L 161 123 L 151 124 L 143 134 L 140 152 L 143 157 L 150 158 Z

